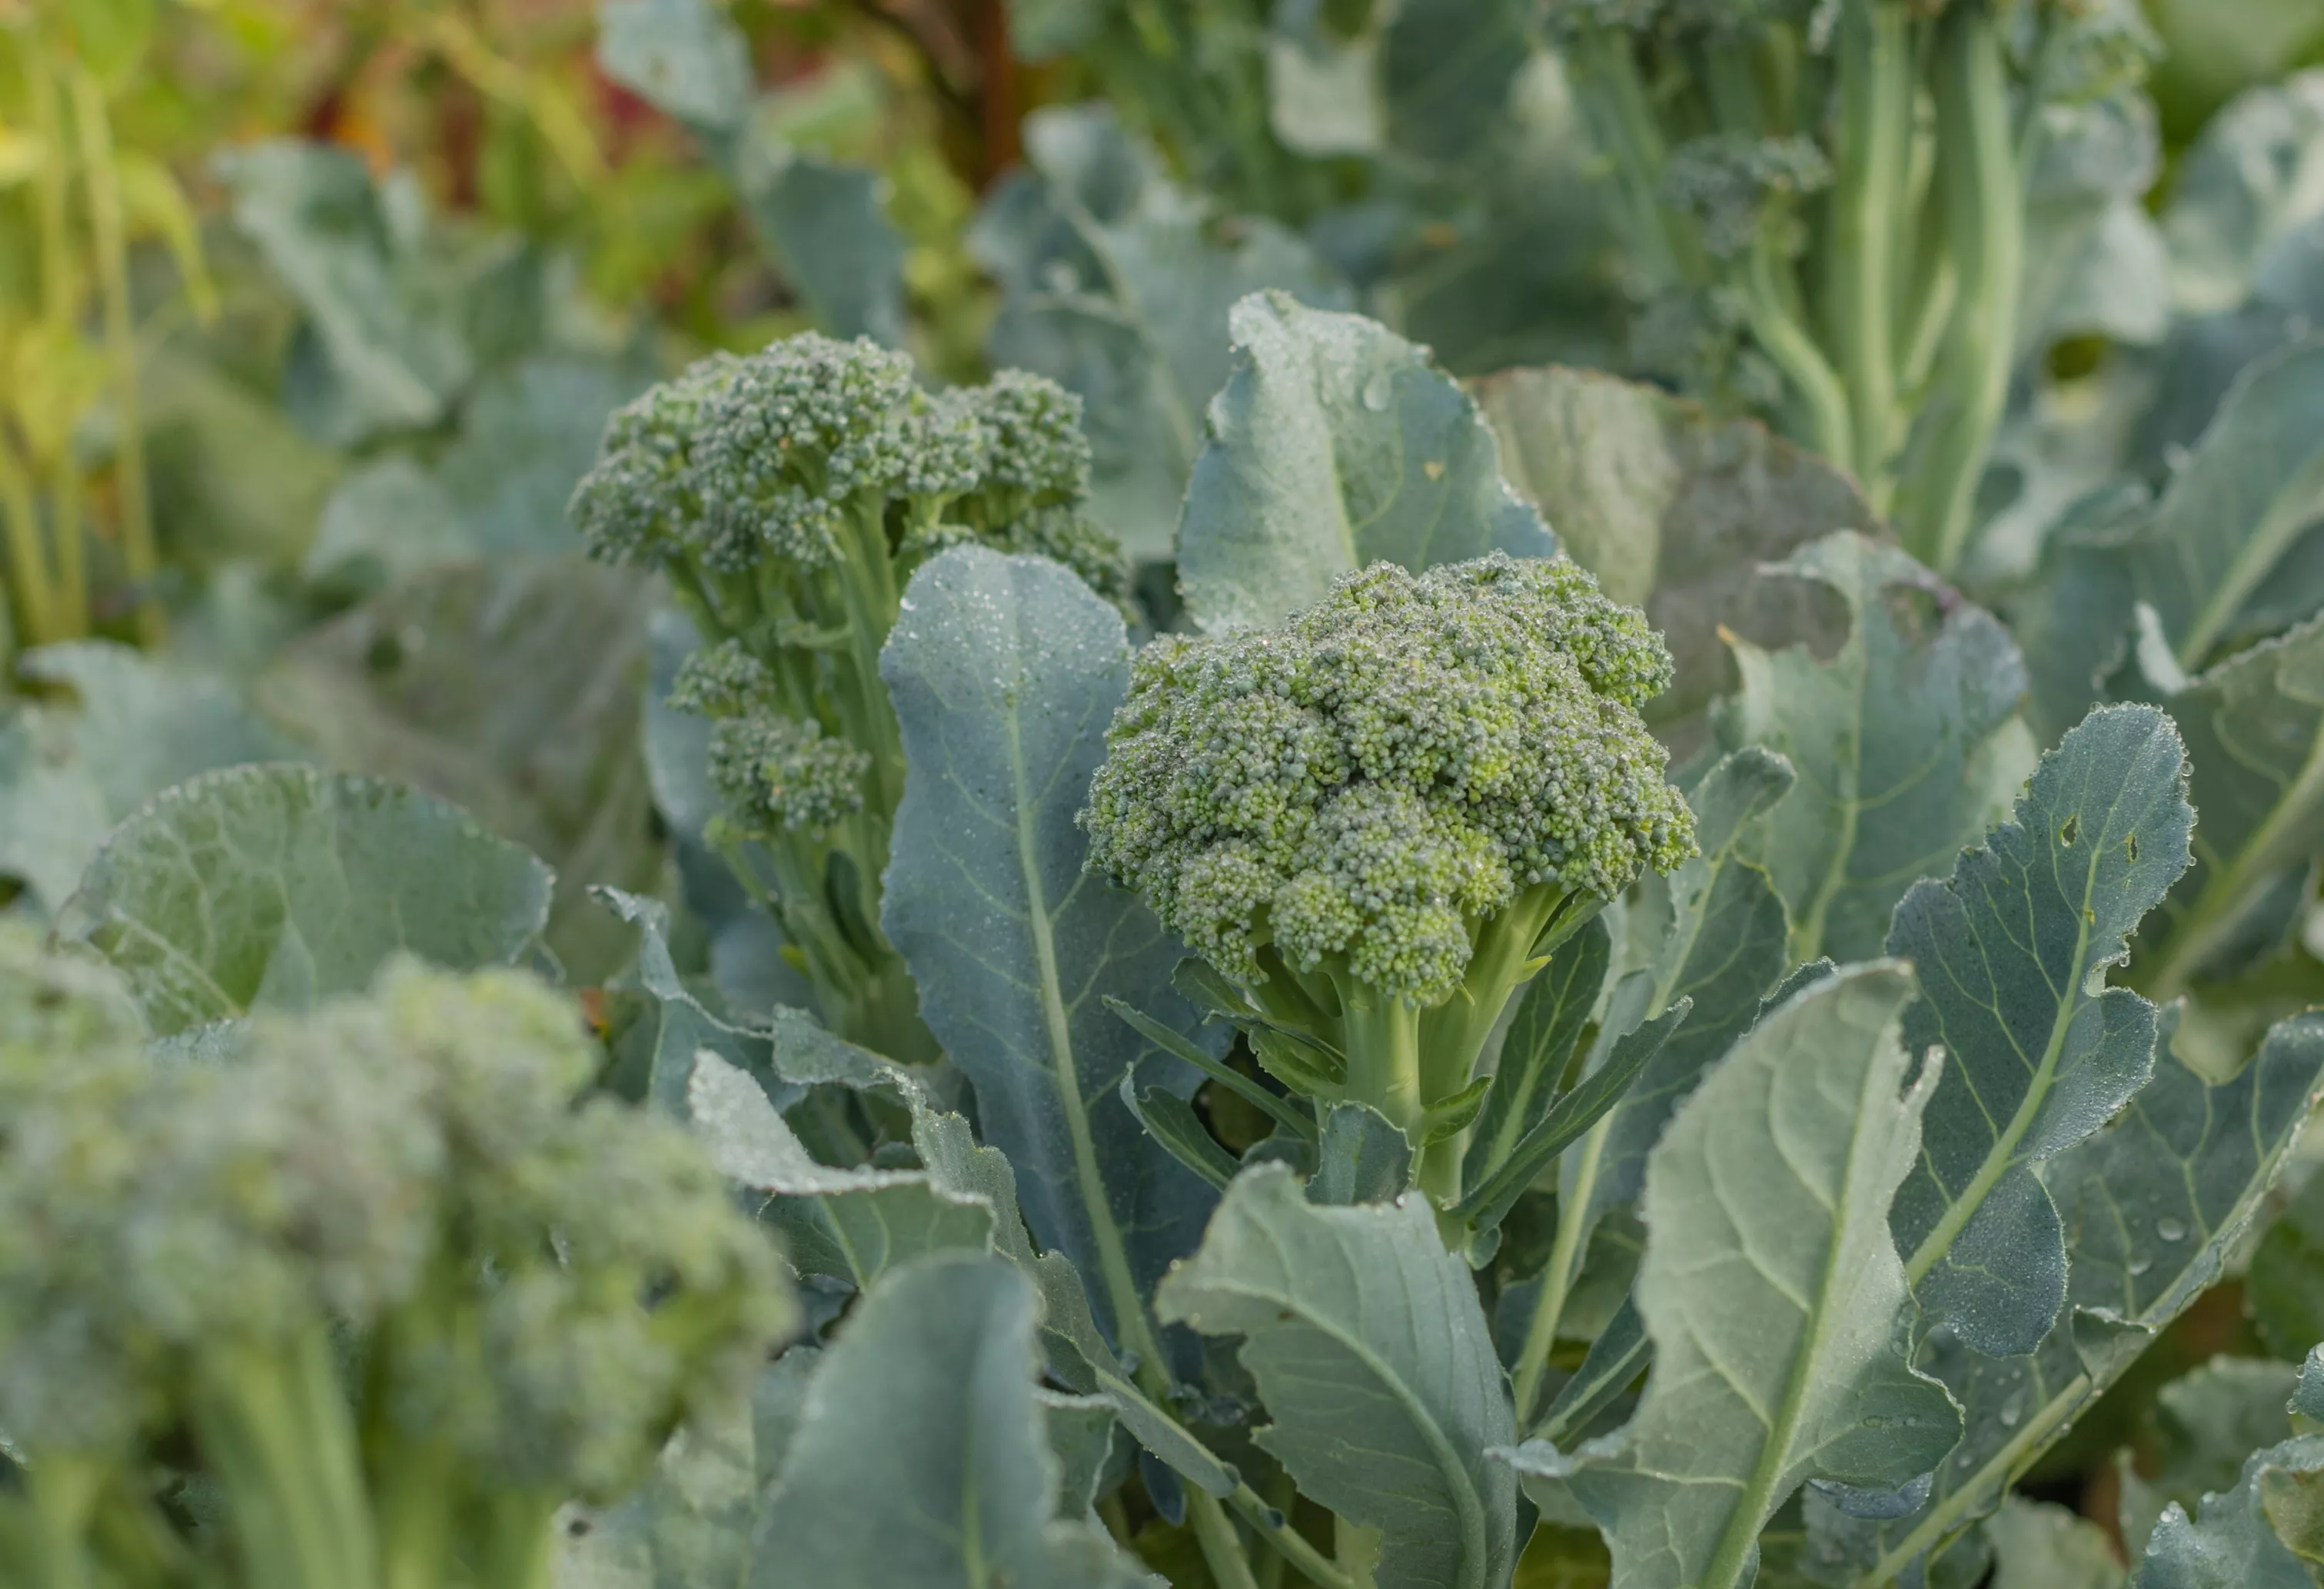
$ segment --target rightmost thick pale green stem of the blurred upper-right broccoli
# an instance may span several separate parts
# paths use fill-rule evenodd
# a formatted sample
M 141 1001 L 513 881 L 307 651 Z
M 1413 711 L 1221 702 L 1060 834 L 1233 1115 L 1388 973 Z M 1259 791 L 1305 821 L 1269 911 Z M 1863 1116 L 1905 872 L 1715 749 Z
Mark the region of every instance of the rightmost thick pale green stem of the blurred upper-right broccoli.
M 1952 5 L 1936 42 L 1938 195 L 1957 302 L 1929 404 L 1931 434 L 1901 504 L 1906 546 L 1945 574 L 1968 548 L 1978 481 L 2010 395 L 2024 181 L 2001 28 L 1985 0 Z

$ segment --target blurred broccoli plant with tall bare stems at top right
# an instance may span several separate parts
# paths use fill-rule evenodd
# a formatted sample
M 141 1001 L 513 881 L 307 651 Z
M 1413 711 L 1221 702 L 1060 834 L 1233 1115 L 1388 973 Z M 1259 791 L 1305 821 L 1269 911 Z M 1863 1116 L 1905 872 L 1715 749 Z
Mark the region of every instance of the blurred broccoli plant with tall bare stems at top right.
M 2043 109 L 2136 77 L 2136 5 L 1552 0 L 1550 26 L 1650 304 L 1641 358 L 1787 414 L 1952 569 L 2017 358 Z

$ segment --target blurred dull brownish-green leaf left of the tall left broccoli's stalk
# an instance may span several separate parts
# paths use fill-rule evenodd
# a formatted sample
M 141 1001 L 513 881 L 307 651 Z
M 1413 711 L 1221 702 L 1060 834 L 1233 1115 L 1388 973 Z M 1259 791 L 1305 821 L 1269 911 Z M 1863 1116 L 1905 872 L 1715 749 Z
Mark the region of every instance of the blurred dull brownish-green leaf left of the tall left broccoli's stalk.
M 579 555 L 432 569 L 297 637 L 251 695 L 332 767 L 449 799 L 546 860 L 548 946 L 597 983 L 630 934 L 588 887 L 662 873 L 639 762 L 651 599 Z

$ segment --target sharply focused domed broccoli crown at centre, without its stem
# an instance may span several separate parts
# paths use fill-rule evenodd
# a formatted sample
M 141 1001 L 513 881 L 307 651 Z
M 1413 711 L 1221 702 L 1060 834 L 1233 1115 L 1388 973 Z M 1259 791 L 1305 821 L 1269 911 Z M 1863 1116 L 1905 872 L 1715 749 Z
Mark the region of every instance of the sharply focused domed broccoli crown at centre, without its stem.
M 1281 630 L 1139 653 L 1090 864 L 1246 983 L 1271 943 L 1434 1004 L 1518 890 L 1611 899 L 1694 850 L 1638 718 L 1669 678 L 1566 558 L 1376 562 Z

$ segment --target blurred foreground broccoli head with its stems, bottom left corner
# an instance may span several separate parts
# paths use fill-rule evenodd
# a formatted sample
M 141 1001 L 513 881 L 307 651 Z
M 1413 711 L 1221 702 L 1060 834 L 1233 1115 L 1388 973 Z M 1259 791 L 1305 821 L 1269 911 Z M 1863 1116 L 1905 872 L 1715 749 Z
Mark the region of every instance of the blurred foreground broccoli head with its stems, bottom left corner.
M 723 1178 L 576 1101 L 595 1069 L 539 983 L 416 966 L 156 1062 L 102 973 L 0 934 L 0 1577 L 546 1584 L 551 1512 L 790 1324 Z

